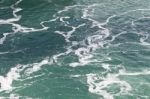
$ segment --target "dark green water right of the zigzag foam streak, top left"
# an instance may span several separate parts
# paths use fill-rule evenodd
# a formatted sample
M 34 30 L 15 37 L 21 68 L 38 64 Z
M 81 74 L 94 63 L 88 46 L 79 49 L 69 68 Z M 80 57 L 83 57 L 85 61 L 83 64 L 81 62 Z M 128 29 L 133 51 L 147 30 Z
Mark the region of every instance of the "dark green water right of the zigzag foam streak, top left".
M 63 2 L 63 3 L 62 3 Z M 65 2 L 65 3 L 64 3 Z M 23 10 L 18 14 L 22 15 L 18 22 L 21 25 L 28 27 L 40 28 L 42 21 L 50 20 L 56 12 L 64 9 L 65 6 L 72 4 L 72 1 L 51 1 L 48 0 L 23 0 L 18 6 Z

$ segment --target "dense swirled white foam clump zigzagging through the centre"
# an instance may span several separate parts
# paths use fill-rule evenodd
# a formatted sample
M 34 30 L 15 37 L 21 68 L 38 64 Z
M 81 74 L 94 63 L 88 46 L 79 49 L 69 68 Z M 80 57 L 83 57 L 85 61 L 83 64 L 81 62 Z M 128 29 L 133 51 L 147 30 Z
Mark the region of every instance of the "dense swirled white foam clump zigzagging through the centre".
M 104 38 L 106 38 L 108 35 L 109 35 L 109 31 L 104 30 L 97 35 L 88 37 L 86 39 L 88 45 L 86 47 L 81 47 L 75 50 L 75 55 L 79 57 L 79 62 L 70 63 L 70 66 L 72 67 L 84 66 L 91 62 L 97 62 L 96 59 L 92 59 L 93 55 L 91 53 L 91 50 L 94 51 L 97 48 L 103 47 L 103 44 L 105 43 Z

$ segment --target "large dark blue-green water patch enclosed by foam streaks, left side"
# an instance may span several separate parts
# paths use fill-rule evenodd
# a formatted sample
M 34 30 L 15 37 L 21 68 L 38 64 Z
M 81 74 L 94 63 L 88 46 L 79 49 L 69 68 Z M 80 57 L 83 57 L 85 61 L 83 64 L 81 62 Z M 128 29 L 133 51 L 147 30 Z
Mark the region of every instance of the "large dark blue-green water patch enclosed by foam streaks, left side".
M 65 51 L 65 40 L 49 31 L 10 35 L 1 45 L 1 69 L 17 64 L 29 64 Z M 7 65 L 7 66 L 6 66 Z

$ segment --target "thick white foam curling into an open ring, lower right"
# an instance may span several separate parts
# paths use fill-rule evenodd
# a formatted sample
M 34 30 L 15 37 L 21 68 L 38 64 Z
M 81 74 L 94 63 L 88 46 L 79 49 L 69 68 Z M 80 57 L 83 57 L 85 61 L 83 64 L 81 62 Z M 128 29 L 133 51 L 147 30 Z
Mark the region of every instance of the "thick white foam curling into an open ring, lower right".
M 128 94 L 132 87 L 126 82 L 117 78 L 118 74 L 108 74 L 106 78 L 99 77 L 96 74 L 87 74 L 87 83 L 89 84 L 89 91 L 103 96 L 104 99 L 114 99 L 114 95 L 107 92 L 108 85 L 117 84 L 120 86 L 118 94 Z M 100 81 L 99 81 L 100 80 Z

